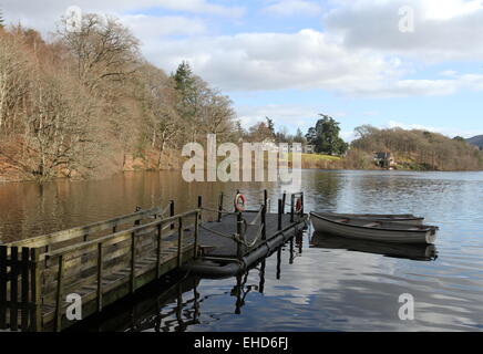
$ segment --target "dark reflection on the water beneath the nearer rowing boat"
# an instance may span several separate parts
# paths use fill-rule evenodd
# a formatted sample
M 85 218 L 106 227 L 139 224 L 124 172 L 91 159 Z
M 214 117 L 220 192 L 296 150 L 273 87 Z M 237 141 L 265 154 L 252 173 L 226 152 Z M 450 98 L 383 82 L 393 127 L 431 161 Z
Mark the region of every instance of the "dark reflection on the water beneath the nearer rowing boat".
M 367 240 L 354 240 L 315 232 L 310 240 L 311 248 L 342 249 L 348 251 L 382 254 L 414 261 L 434 261 L 438 250 L 434 244 L 399 244 Z

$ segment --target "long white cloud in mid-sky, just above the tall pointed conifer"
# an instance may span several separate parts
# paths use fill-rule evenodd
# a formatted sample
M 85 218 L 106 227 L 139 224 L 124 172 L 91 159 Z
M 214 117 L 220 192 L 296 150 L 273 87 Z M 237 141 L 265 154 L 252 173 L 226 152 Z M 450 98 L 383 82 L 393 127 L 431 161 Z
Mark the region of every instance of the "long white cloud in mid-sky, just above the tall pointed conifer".
M 150 59 L 167 70 L 188 60 L 196 73 L 224 91 L 350 92 L 383 77 L 395 77 L 400 70 L 397 61 L 346 50 L 315 30 L 163 41 Z

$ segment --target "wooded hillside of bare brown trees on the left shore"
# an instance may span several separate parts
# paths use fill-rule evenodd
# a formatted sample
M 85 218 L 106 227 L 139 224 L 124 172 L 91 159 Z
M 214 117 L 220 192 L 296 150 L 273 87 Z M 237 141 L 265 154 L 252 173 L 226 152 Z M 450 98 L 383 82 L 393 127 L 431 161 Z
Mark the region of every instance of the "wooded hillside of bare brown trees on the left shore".
M 229 97 L 181 63 L 150 64 L 117 19 L 65 19 L 54 40 L 0 27 L 0 179 L 94 177 L 178 165 L 181 147 L 237 138 Z

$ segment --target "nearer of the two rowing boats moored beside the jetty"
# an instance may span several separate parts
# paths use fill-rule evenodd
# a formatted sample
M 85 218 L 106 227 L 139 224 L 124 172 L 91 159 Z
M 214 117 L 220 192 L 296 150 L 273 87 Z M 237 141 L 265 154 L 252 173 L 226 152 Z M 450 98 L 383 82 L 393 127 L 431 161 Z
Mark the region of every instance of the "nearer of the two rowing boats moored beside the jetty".
M 412 225 L 394 225 L 384 227 L 364 227 L 361 225 L 342 223 L 330 220 L 316 214 L 310 214 L 310 220 L 317 232 L 327 232 L 333 236 L 372 240 L 393 243 L 422 243 L 432 244 L 436 239 L 435 228 L 421 228 Z M 362 222 L 359 222 L 362 223 Z

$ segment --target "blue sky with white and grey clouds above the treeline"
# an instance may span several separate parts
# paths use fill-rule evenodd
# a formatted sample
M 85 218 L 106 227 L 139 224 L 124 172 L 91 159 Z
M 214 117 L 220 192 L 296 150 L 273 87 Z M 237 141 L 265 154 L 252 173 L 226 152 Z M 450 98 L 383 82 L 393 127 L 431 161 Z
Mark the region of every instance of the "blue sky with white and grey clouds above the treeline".
M 187 60 L 249 125 L 341 122 L 483 134 L 483 0 L 3 0 L 48 35 L 69 7 L 119 17 L 145 56 Z M 413 14 L 411 23 L 410 15 Z

